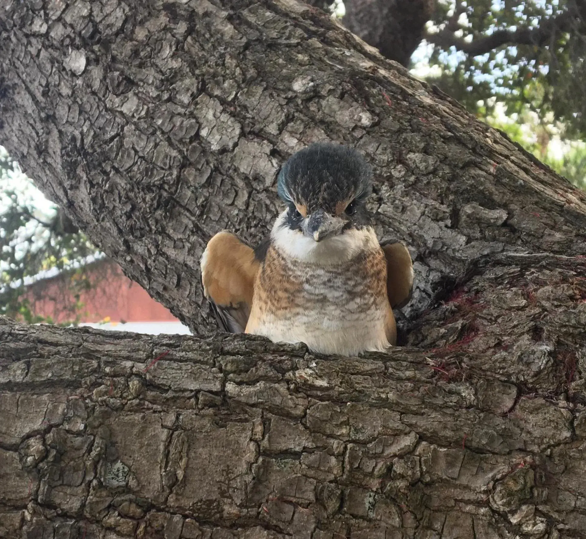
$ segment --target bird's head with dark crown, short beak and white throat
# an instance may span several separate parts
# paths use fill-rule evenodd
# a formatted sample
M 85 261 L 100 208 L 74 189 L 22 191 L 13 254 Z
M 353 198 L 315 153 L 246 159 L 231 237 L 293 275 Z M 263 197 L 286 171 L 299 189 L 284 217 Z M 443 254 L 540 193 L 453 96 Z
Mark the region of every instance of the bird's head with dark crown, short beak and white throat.
M 277 182 L 287 204 L 277 221 L 282 243 L 289 243 L 286 250 L 302 254 L 297 258 L 356 250 L 365 234 L 372 236 L 365 206 L 371 182 L 369 164 L 349 146 L 319 142 L 291 156 Z

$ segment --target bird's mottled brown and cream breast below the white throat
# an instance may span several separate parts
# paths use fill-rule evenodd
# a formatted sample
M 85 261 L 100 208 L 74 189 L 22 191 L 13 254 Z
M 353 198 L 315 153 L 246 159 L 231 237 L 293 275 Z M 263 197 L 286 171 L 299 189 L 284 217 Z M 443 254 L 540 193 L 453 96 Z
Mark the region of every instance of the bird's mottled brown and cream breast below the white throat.
M 322 266 L 271 246 L 255 282 L 246 332 L 304 342 L 321 353 L 350 355 L 394 344 L 383 251 Z

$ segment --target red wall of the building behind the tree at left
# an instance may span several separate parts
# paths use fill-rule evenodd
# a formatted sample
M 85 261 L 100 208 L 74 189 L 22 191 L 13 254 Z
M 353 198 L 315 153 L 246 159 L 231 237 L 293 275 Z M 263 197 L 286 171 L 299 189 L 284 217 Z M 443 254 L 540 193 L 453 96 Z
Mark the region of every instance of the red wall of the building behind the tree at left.
M 81 286 L 80 273 L 58 275 L 31 285 L 26 297 L 33 313 L 50 316 L 55 323 L 73 320 L 75 312 L 68 307 L 76 302 L 74 296 L 79 294 L 79 301 L 83 303 L 77 311 L 81 315 L 79 322 L 101 322 L 107 317 L 111 322 L 177 321 L 142 286 L 126 277 L 114 262 L 96 262 L 84 271 L 90 282 L 87 290 Z

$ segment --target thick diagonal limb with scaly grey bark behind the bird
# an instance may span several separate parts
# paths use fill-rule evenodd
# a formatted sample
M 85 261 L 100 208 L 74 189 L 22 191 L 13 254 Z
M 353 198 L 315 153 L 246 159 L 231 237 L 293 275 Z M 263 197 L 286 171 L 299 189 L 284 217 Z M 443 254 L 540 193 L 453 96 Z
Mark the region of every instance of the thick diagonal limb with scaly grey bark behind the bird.
M 323 138 L 364 152 L 375 172 L 380 239 L 413 249 L 418 286 L 407 317 L 434 305 L 480 253 L 543 251 L 544 230 L 558 238 L 547 248 L 586 250 L 583 195 L 534 169 L 529 156 L 372 54 L 326 13 L 299 4 L 291 14 L 281 0 L 249 1 L 246 9 L 236 0 L 223 0 L 222 9 L 205 3 L 209 33 L 178 22 L 195 16 L 191 4 L 176 6 L 176 18 L 132 2 L 138 18 L 124 26 L 135 29 L 132 39 L 117 26 L 130 9 L 120 2 L 117 15 L 90 32 L 95 43 L 79 30 L 93 28 L 90 12 L 74 12 L 73 25 L 63 19 L 63 36 L 75 46 L 54 32 L 31 37 L 32 21 L 39 32 L 42 21 L 12 2 L 0 33 L 2 142 L 94 245 L 194 332 L 216 327 L 198 269 L 207 240 L 230 228 L 260 241 L 280 210 L 273 186 L 281 163 Z M 159 11 L 164 29 L 144 33 Z M 65 16 L 54 13 L 56 21 Z M 45 52 L 33 54 L 38 40 Z M 161 64 L 167 47 L 173 62 Z M 53 118 L 49 128 L 46 118 Z M 436 131 L 442 136 L 430 138 Z M 462 167 L 457 187 L 455 162 Z M 497 169 L 526 178 L 521 207 L 512 202 L 519 198 L 515 182 L 479 187 L 479 178 Z M 576 201 L 572 211 L 548 209 L 566 200 Z M 459 208 L 479 201 L 509 216 L 530 206 L 543 217 L 515 231 L 460 227 Z M 571 225 L 562 226 L 566 220 Z M 584 226 L 574 231 L 580 220 Z

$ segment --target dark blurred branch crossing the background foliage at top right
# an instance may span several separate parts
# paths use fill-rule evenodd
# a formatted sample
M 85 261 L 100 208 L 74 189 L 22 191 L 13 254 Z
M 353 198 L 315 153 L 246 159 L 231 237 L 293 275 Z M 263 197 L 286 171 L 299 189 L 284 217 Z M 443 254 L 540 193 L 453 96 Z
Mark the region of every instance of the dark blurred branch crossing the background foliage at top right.
M 498 30 L 488 36 L 479 37 L 468 42 L 456 37 L 453 31 L 442 30 L 438 33 L 426 32 L 424 38 L 444 49 L 455 47 L 456 50 L 478 56 L 486 54 L 491 50 L 498 49 L 503 45 L 534 45 L 541 47 L 553 43 L 556 35 L 575 30 L 581 26 L 577 11 L 570 9 L 541 22 L 535 28 L 517 28 L 516 30 Z

